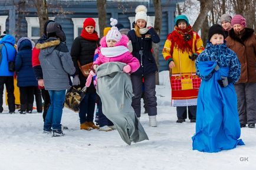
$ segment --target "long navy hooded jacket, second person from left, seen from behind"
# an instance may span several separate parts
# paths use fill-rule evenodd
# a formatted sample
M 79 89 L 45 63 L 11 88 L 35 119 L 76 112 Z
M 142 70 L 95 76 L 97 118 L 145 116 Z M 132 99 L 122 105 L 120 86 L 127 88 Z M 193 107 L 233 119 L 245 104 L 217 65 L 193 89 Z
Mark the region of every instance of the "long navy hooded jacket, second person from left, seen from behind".
M 22 38 L 17 44 L 18 53 L 15 59 L 18 86 L 38 86 L 32 69 L 32 44 L 28 38 Z

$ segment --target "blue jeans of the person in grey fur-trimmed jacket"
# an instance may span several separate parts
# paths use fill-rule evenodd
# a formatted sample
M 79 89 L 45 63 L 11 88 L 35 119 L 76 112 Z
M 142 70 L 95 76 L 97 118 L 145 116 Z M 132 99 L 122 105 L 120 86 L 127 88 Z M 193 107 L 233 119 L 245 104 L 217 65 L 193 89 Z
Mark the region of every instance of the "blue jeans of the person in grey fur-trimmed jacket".
M 61 130 L 61 116 L 63 113 L 63 104 L 65 101 L 65 90 L 62 91 L 48 91 L 51 99 L 51 104 L 48 108 L 47 115 L 44 122 L 44 130 L 50 129 Z

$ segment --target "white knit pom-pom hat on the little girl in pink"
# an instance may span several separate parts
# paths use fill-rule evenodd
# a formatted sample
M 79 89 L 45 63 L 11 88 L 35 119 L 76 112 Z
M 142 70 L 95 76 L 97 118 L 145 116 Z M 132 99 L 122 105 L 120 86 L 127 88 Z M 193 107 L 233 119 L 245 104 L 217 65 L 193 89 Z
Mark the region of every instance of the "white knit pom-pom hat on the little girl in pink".
M 122 38 L 122 34 L 119 32 L 118 28 L 115 26 L 117 24 L 117 19 L 110 18 L 110 25 L 112 26 L 110 31 L 107 32 L 106 42 L 110 39 L 113 39 L 116 42 L 119 42 Z

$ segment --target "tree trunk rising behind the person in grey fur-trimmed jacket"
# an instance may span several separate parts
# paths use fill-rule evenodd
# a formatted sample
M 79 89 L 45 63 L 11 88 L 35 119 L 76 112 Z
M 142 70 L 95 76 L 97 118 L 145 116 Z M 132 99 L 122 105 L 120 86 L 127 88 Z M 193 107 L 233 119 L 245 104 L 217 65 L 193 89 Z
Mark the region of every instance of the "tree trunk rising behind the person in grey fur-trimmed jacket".
M 31 0 L 37 9 L 37 15 L 40 25 L 40 36 L 44 34 L 44 24 L 48 21 L 47 0 Z

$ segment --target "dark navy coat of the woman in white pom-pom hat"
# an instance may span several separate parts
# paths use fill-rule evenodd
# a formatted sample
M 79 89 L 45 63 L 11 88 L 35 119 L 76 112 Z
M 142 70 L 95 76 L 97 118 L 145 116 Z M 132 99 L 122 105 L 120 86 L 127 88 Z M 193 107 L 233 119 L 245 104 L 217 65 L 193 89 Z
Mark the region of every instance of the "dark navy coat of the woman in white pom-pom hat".
M 152 42 L 160 42 L 159 36 L 156 34 L 155 29 L 150 28 L 142 37 L 137 37 L 134 29 L 129 31 L 127 36 L 132 41 L 133 56 L 139 59 L 140 68 L 134 72 L 134 75 L 147 75 L 152 72 L 157 72 L 155 58 L 152 55 Z M 142 56 L 140 55 L 143 54 Z

